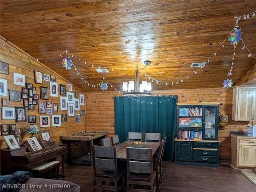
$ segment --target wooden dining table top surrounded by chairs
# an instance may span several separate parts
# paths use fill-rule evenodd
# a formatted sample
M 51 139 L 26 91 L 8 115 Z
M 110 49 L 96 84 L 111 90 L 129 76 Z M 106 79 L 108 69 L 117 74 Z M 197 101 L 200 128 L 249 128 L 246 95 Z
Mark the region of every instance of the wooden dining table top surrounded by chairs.
M 116 145 L 116 158 L 126 159 L 126 147 L 130 147 L 132 143 L 132 141 L 125 141 Z M 160 142 L 142 142 L 142 148 L 152 148 L 152 154 L 155 154 L 160 144 Z

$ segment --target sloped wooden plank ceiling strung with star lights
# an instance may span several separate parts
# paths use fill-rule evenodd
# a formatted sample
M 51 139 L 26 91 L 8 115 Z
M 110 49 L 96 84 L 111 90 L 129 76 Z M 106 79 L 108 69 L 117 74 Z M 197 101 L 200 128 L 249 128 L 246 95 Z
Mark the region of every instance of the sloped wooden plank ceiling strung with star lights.
M 152 91 L 222 87 L 232 61 L 229 79 L 236 85 L 256 63 L 254 0 L 3 0 L 0 6 L 1 35 L 84 91 L 102 91 L 103 77 L 108 91 L 122 91 L 136 65 L 144 80 L 154 79 Z M 228 36 L 236 16 L 244 43 L 234 49 Z M 67 56 L 70 70 L 62 68 Z

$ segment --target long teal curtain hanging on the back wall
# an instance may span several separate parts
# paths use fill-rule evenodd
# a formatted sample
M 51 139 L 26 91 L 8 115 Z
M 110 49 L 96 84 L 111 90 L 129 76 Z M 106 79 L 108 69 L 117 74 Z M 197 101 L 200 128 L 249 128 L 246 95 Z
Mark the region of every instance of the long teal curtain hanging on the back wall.
M 114 97 L 115 134 L 127 141 L 128 132 L 166 136 L 163 160 L 174 161 L 177 96 Z

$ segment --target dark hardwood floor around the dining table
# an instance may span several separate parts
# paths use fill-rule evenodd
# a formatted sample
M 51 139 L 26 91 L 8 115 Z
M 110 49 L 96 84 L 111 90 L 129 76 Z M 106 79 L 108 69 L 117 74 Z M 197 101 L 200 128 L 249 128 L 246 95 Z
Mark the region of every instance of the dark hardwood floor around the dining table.
M 252 182 L 229 166 L 175 165 L 166 161 L 163 172 L 161 192 L 256 192 Z M 80 185 L 81 192 L 92 192 L 92 166 L 66 165 L 64 173 L 66 178 L 60 180 Z

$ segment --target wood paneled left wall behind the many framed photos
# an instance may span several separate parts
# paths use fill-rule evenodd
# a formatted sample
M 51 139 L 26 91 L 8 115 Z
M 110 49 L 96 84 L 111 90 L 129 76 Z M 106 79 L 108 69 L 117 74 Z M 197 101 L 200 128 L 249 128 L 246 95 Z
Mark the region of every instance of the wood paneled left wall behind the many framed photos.
M 1 39 L 1 44 L 3 43 L 3 40 Z M 8 42 L 10 44 L 10 42 Z M 13 47 L 6 47 L 1 46 L 1 52 L 0 52 L 0 59 L 3 62 L 9 63 L 9 75 L 0 74 L 1 79 L 6 79 L 8 81 L 8 89 L 21 91 L 21 88 L 23 86 L 20 85 L 14 85 L 13 84 L 13 73 L 20 73 L 23 75 L 26 75 L 26 83 L 32 83 L 34 87 L 36 87 L 36 93 L 40 95 L 40 86 L 48 87 L 48 95 L 49 99 L 44 100 L 40 99 L 40 102 L 53 102 L 58 103 L 58 113 L 53 113 L 53 115 L 60 115 L 62 113 L 68 114 L 68 111 L 62 111 L 60 110 L 60 84 L 66 85 L 66 91 L 68 91 L 68 84 L 72 84 L 71 82 L 68 82 L 66 79 L 58 75 L 57 73 L 54 73 L 52 70 L 50 70 L 48 67 L 45 67 L 40 62 L 37 62 L 36 59 L 32 59 L 26 52 L 19 49 L 15 45 Z M 58 64 L 60 67 L 62 67 L 61 64 L 62 59 L 56 60 L 56 65 Z M 43 74 L 47 75 L 54 75 L 56 77 L 56 83 L 58 83 L 58 97 L 51 97 L 50 96 L 50 83 L 47 81 L 43 81 L 43 84 L 36 84 L 34 81 L 34 69 L 37 71 L 42 72 Z M 63 68 L 63 70 L 66 70 Z M 78 91 L 78 97 L 79 93 L 84 94 L 84 92 L 76 87 L 74 84 L 72 84 L 72 93 L 75 93 L 75 91 Z M 64 96 L 64 95 L 61 95 Z M 7 98 L 5 96 L 1 96 L 1 98 Z M 23 107 L 23 99 L 21 99 L 21 102 L 14 102 L 14 101 L 8 101 L 7 107 Z M 85 109 L 85 106 L 80 105 L 80 109 Z M 80 114 L 80 111 L 74 111 L 75 114 Z M 38 113 L 38 105 L 35 105 L 35 110 L 28 110 L 28 107 L 26 107 L 26 113 L 27 115 L 36 115 L 36 125 L 40 127 L 40 115 L 47 115 Z M 56 143 L 60 143 L 60 135 L 67 135 L 71 134 L 77 131 L 85 131 L 86 130 L 86 116 L 80 116 L 80 121 L 75 121 L 75 116 L 68 116 L 67 122 L 62 122 L 61 126 L 58 127 L 52 127 L 52 115 L 50 116 L 50 127 L 42 127 L 40 128 L 41 132 L 49 132 L 51 139 L 53 141 L 56 141 Z M 28 121 L 26 122 L 20 122 L 16 123 L 15 120 L 2 120 L 2 108 L 0 113 L 1 118 L 1 125 L 2 124 L 16 124 L 16 126 L 21 128 L 22 131 L 22 142 L 26 141 L 26 138 L 31 137 L 31 134 L 24 133 L 24 128 L 29 124 Z M 28 118 L 28 117 L 27 117 Z M 34 134 L 34 136 L 38 135 L 40 138 L 40 134 Z M 0 137 L 1 139 L 1 148 L 8 147 L 5 139 L 3 136 Z

